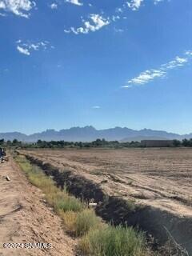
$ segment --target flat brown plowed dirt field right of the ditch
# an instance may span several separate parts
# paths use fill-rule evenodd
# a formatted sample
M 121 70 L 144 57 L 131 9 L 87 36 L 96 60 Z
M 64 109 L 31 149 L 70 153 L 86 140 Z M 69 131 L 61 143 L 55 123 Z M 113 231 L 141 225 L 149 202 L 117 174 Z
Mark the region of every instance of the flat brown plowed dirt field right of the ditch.
M 43 161 L 73 170 L 110 195 L 192 216 L 192 149 L 27 150 Z

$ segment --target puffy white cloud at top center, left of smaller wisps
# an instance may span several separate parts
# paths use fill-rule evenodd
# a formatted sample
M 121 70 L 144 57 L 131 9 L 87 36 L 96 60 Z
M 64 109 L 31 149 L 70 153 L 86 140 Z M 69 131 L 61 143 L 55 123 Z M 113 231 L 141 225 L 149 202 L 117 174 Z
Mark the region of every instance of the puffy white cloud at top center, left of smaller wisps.
M 89 32 L 95 32 L 100 30 L 103 26 L 107 26 L 110 24 L 110 18 L 103 18 L 102 15 L 99 14 L 90 14 L 89 21 L 85 21 L 82 19 L 83 25 L 74 28 L 70 27 L 69 30 L 64 30 L 65 33 L 74 33 L 74 34 L 88 34 Z

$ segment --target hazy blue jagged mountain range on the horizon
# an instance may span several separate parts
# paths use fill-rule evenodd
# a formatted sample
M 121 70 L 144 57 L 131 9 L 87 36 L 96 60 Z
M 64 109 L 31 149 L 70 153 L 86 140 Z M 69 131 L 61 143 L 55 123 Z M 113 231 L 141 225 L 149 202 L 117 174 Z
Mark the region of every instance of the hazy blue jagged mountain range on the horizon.
M 91 142 L 97 138 L 105 138 L 108 141 L 118 140 L 120 142 L 141 141 L 142 139 L 179 139 L 192 138 L 191 134 L 174 134 L 164 130 L 132 130 L 127 127 L 114 127 L 104 130 L 96 130 L 93 126 L 72 127 L 63 130 L 46 130 L 36 134 L 22 134 L 18 132 L 0 133 L 0 138 L 13 140 L 14 138 L 22 142 L 37 142 L 38 139 L 44 141 L 68 141 L 68 142 Z

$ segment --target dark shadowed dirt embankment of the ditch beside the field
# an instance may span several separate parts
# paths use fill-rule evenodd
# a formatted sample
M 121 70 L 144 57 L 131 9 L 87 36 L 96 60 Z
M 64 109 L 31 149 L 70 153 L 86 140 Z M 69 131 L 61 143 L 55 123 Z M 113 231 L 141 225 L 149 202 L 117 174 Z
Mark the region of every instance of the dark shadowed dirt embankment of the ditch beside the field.
M 192 219 L 172 214 L 166 210 L 161 210 L 153 206 L 141 206 L 129 203 L 127 200 L 112 196 L 102 188 L 102 183 L 94 182 L 80 173 L 73 170 L 63 171 L 63 166 L 58 166 L 54 162 L 42 161 L 26 154 L 31 162 L 42 167 L 46 174 L 54 176 L 58 186 L 67 186 L 70 193 L 84 200 L 94 198 L 98 202 L 96 212 L 103 219 L 114 224 L 128 224 L 139 227 L 146 231 L 148 236 L 155 238 L 154 246 L 163 246 L 170 238 L 167 230 L 174 239 L 182 245 L 192 255 Z M 62 169 L 61 169 L 62 168 Z

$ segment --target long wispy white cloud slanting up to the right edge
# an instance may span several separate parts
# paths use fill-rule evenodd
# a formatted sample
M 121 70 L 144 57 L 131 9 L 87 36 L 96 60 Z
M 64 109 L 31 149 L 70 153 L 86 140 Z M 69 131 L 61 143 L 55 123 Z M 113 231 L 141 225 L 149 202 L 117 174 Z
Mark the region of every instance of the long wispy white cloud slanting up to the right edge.
M 142 86 L 155 78 L 164 78 L 169 70 L 186 65 L 192 59 L 192 51 L 186 51 L 183 57 L 175 57 L 172 61 L 162 64 L 158 69 L 145 70 L 138 74 L 137 77 L 130 79 L 122 88 L 130 88 L 132 86 Z

